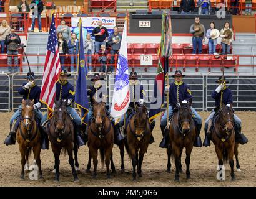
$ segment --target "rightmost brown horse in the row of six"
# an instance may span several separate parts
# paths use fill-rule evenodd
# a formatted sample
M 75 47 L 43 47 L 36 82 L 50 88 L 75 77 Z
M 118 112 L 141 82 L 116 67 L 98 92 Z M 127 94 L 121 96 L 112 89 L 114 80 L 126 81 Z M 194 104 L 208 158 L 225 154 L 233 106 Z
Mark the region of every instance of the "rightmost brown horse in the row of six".
M 212 129 L 212 142 L 214 142 L 215 145 L 220 170 L 222 170 L 221 166 L 223 165 L 223 161 L 227 161 L 229 158 L 231 180 L 235 180 L 233 157 L 234 150 L 235 148 L 237 150 L 238 144 L 235 147 L 234 113 L 232 106 L 228 107 L 223 105 L 222 109 L 217 113 Z

